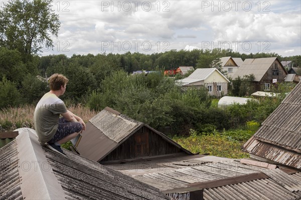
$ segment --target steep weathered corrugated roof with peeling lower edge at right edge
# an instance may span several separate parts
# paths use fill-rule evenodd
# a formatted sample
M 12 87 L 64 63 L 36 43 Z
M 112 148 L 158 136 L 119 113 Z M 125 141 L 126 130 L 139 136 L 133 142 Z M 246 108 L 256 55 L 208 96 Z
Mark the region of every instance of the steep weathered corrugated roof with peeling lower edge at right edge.
M 243 150 L 301 168 L 301 82 L 262 122 L 259 130 L 244 144 Z

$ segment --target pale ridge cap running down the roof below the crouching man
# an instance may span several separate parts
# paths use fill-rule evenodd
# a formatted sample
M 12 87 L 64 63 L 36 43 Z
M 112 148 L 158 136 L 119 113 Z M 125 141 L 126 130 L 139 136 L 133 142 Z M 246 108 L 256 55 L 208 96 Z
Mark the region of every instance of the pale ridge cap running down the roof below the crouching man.
M 48 170 L 44 168 L 48 161 L 38 137 L 32 130 L 20 128 L 19 132 L 21 132 L 16 137 L 22 194 L 24 198 L 29 199 L 65 198 L 62 186 L 53 174 L 52 167 L 50 166 Z M 27 163 L 29 168 L 25 168 L 27 165 L 24 163 Z M 41 192 L 31 192 L 33 187 L 39 187 Z

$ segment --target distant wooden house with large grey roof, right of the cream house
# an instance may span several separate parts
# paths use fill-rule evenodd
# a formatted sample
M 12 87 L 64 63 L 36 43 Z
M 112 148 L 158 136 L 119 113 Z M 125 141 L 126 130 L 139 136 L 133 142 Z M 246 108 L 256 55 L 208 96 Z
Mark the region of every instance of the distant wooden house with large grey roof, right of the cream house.
M 247 58 L 232 78 L 251 74 L 255 77 L 255 90 L 263 91 L 270 90 L 273 83 L 284 82 L 287 72 L 277 57 Z

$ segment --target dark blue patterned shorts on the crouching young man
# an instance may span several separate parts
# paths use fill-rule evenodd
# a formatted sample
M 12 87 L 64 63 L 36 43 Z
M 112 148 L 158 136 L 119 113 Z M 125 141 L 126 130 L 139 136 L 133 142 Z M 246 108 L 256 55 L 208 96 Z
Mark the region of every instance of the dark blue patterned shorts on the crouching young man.
M 72 134 L 74 132 L 79 132 L 83 129 L 83 125 L 80 122 L 69 122 L 66 118 L 60 117 L 59 118 L 59 126 L 58 129 L 53 136 L 47 143 L 51 144 L 57 142 L 64 137 Z

